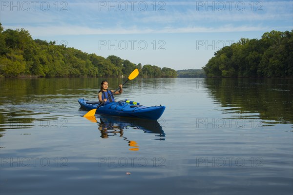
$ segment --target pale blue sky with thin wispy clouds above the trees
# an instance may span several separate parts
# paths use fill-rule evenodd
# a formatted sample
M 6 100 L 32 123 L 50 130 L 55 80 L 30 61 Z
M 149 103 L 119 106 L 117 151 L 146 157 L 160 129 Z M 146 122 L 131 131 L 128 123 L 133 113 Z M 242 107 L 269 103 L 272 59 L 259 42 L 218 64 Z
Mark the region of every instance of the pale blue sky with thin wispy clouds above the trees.
M 133 63 L 200 69 L 223 46 L 293 29 L 293 0 L 0 0 L 4 29 Z

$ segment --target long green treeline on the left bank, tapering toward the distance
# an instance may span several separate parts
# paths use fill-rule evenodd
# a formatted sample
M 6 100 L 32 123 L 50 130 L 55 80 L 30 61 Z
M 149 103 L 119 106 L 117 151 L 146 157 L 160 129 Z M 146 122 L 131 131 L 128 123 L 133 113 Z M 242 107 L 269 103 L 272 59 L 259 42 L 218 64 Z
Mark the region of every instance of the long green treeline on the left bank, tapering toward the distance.
M 24 29 L 3 31 L 0 23 L 0 77 L 121 77 L 135 68 L 139 77 L 175 78 L 171 68 L 134 64 L 117 56 L 87 54 L 55 41 L 33 40 Z

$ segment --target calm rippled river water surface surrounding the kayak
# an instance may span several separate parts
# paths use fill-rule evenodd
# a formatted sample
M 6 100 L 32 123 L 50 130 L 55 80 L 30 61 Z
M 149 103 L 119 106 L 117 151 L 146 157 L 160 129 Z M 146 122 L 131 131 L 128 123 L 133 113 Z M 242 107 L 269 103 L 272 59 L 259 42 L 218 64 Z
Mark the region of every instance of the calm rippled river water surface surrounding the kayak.
M 1 195 L 293 194 L 292 79 L 136 78 L 158 121 L 89 121 L 101 80 L 0 80 Z

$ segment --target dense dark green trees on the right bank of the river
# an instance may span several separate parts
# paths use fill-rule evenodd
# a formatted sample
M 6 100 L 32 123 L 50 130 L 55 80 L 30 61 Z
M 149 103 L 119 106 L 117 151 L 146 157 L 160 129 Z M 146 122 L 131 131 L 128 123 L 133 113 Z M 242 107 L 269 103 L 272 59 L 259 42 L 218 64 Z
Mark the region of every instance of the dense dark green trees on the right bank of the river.
M 223 47 L 203 67 L 208 77 L 293 78 L 293 30 Z

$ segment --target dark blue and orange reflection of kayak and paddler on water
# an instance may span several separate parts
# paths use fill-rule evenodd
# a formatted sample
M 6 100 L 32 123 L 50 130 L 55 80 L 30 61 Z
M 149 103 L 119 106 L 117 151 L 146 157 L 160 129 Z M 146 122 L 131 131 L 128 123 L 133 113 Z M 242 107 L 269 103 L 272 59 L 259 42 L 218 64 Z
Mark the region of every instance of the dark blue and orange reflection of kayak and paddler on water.
M 144 133 L 156 134 L 155 137 L 158 137 L 155 138 L 156 140 L 165 140 L 166 136 L 162 126 L 156 120 L 103 116 L 97 118 L 96 121 L 99 125 L 102 138 L 109 138 L 111 136 L 123 137 L 123 139 L 128 142 L 128 146 L 130 146 L 129 150 L 132 151 L 139 150 L 139 145 L 136 141 L 128 140 L 128 138 L 125 137 L 124 130 L 126 129 L 143 130 Z

